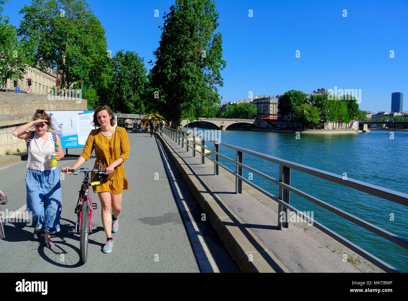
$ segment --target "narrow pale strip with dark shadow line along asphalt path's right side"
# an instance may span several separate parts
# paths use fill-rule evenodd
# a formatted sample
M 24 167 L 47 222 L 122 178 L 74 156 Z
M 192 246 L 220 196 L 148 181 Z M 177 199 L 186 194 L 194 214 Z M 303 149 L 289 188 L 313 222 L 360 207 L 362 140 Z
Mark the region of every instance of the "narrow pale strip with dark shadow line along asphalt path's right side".
M 215 263 L 213 255 L 211 254 L 211 251 L 208 249 L 208 246 L 206 242 L 204 241 L 203 235 L 200 229 L 198 228 L 197 223 L 195 222 L 194 217 L 191 214 L 191 211 L 185 202 L 185 198 L 180 190 L 180 186 L 177 184 L 173 171 L 170 168 L 170 164 L 166 156 L 166 153 L 164 152 L 162 144 L 159 139 L 157 139 L 157 142 L 160 146 L 160 150 L 163 154 L 163 158 L 166 161 L 165 167 L 166 167 L 167 174 L 172 179 L 171 181 L 171 184 L 173 186 L 172 189 L 173 191 L 177 190 L 178 197 L 176 195 L 176 201 L 177 201 L 179 208 L 181 209 L 183 219 L 186 221 L 186 228 L 188 230 L 189 236 L 192 238 L 191 244 L 194 248 L 194 253 L 196 255 L 197 261 L 200 264 L 200 269 L 202 272 L 219 273 L 220 269 L 218 268 L 217 263 Z M 194 239 L 195 237 L 197 239 Z M 198 256 L 198 254 L 204 255 L 206 260 L 204 260 L 202 256 Z M 208 263 L 210 264 L 210 266 L 208 266 Z

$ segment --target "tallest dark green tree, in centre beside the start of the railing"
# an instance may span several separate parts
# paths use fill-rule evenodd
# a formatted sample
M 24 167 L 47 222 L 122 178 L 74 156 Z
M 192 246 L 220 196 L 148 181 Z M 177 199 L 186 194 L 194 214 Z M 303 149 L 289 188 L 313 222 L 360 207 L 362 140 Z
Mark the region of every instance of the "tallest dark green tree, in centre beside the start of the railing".
M 170 10 L 148 75 L 149 111 L 177 126 L 182 117 L 196 120 L 220 104 L 217 86 L 223 86 L 226 62 L 213 0 L 176 0 Z

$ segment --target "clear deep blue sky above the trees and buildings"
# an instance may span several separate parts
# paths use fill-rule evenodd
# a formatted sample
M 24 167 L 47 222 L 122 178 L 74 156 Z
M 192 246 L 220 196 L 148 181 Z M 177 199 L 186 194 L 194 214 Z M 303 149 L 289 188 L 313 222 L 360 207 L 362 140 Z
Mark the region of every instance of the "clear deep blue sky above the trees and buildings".
M 18 25 L 30 0 L 11 0 L 3 14 Z M 88 0 L 106 30 L 108 50 L 154 61 L 162 15 L 174 0 Z M 222 33 L 222 102 L 290 89 L 361 89 L 360 108 L 390 111 L 391 93 L 408 111 L 408 1 L 216 0 Z M 155 9 L 160 17 L 154 17 Z M 249 17 L 252 9 L 253 17 Z M 343 17 L 343 10 L 347 17 Z M 296 58 L 296 51 L 300 58 Z M 394 58 L 390 58 L 390 51 Z

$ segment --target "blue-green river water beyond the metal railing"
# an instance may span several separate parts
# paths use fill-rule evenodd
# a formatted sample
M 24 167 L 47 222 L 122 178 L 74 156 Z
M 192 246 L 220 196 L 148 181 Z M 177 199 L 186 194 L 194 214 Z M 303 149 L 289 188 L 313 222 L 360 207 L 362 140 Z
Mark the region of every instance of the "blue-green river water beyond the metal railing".
M 184 128 L 183 130 L 186 130 Z M 205 130 L 202 128 L 202 130 Z M 408 132 L 371 131 L 362 134 L 312 135 L 255 131 L 220 131 L 220 141 L 249 150 L 408 193 Z M 213 144 L 206 145 L 213 149 Z M 235 160 L 235 151 L 220 146 Z M 244 154 L 244 164 L 279 179 L 279 165 Z M 220 158 L 235 170 L 235 164 Z M 249 177 L 248 170 L 243 171 Z M 346 174 L 345 174 L 346 173 Z M 253 175 L 253 182 L 273 195 L 278 186 Z M 408 207 L 291 170 L 290 184 L 337 208 L 408 239 Z M 401 272 L 408 272 L 408 250 L 397 246 L 324 208 L 290 193 L 290 204 L 313 211 L 313 218 Z

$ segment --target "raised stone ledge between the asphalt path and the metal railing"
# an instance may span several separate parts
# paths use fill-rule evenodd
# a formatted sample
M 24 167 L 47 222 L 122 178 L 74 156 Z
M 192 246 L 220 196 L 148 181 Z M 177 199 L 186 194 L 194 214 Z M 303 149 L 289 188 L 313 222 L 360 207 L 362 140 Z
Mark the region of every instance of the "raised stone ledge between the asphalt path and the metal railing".
M 306 222 L 277 230 L 278 204 L 171 137 L 160 139 L 237 265 L 251 272 L 384 272 Z M 344 254 L 349 260 L 344 260 Z M 352 262 L 357 262 L 353 264 Z

